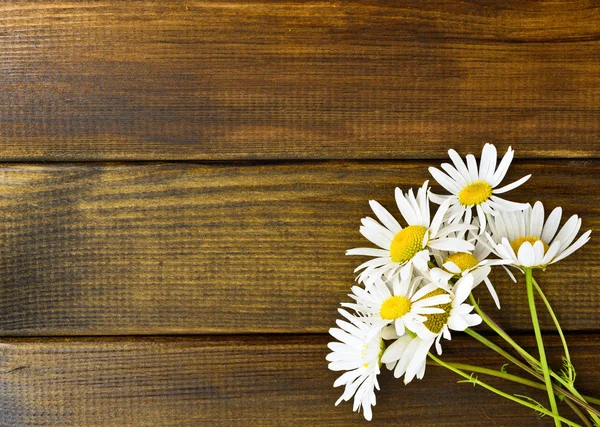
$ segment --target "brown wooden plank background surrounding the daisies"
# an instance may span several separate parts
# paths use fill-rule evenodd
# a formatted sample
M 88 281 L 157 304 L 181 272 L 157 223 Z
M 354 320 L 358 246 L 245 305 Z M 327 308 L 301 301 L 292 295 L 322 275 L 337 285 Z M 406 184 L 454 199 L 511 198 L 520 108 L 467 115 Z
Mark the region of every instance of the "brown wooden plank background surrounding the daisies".
M 540 281 L 600 394 L 599 76 L 592 1 L 2 2 L 0 425 L 367 425 L 325 361 L 344 251 L 485 142 L 533 173 L 514 199 L 594 230 Z M 384 374 L 370 425 L 552 424 L 456 380 Z

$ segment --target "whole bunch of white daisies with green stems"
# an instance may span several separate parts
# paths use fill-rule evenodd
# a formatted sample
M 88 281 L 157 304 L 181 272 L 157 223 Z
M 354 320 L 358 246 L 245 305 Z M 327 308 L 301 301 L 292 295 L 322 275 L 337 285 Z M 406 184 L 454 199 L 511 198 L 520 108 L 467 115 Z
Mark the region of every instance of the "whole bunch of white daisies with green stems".
M 575 369 L 569 350 L 550 303 L 533 277 L 536 269 L 545 269 L 583 246 L 591 231 L 577 240 L 581 219 L 569 218 L 562 228 L 562 210 L 552 210 L 545 217 L 544 206 L 536 202 L 515 203 L 504 198 L 508 191 L 526 182 L 527 175 L 513 183 L 500 186 L 512 162 L 514 151 L 509 148 L 497 164 L 496 148 L 483 147 L 479 164 L 472 154 L 466 162 L 454 150 L 452 161 L 441 169 L 429 168 L 433 178 L 450 194 L 434 194 L 425 182 L 416 193 L 396 188 L 395 198 L 403 218 L 401 224 L 375 200 L 369 201 L 375 218 L 361 220 L 360 233 L 375 247 L 350 249 L 347 255 L 369 259 L 355 272 L 357 286 L 349 294 L 351 302 L 342 303 L 337 328 L 330 334 L 337 340 L 329 343 L 329 368 L 345 371 L 334 383 L 344 386 L 336 402 L 354 397 L 354 410 L 362 408 L 367 420 L 372 418 L 377 376 L 385 365 L 396 378 L 408 384 L 425 375 L 427 364 L 435 364 L 455 372 L 465 382 L 482 386 L 502 397 L 530 407 L 554 418 L 557 426 L 574 423 L 562 417 L 556 399 L 564 399 L 581 418 L 583 425 L 600 426 L 600 412 L 590 403 L 600 400 L 581 395 L 574 385 Z M 430 211 L 437 205 L 435 212 Z M 559 229 L 560 228 L 560 229 Z M 500 301 L 490 281 L 493 267 L 502 266 L 513 281 L 513 272 L 525 275 L 528 303 L 539 356 L 525 351 L 477 304 L 472 290 L 483 284 L 496 306 Z M 564 348 L 564 366 L 560 372 L 549 368 L 546 361 L 537 318 L 534 294 L 543 301 L 554 320 Z M 486 323 L 520 359 L 478 334 L 473 326 Z M 521 379 L 504 370 L 494 371 L 465 364 L 443 361 L 442 338 L 449 340 L 451 331 L 465 332 L 493 351 L 504 356 L 536 381 Z M 474 373 L 485 373 L 510 381 L 544 388 L 549 407 L 504 393 L 479 380 Z

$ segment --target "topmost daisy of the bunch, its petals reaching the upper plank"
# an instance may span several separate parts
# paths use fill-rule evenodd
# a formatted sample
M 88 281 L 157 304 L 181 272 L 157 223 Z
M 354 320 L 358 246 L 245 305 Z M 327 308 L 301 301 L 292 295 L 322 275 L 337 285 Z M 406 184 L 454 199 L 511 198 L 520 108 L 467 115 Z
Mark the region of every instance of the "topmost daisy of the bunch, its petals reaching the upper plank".
M 475 207 L 481 225 L 479 234 L 483 234 L 486 227 L 486 214 L 494 216 L 499 212 L 515 211 L 527 206 L 524 203 L 510 202 L 497 196 L 497 194 L 517 188 L 531 177 L 531 175 L 527 175 L 511 184 L 497 188 L 504 179 L 514 157 L 512 148 L 508 147 L 508 151 L 497 168 L 496 147 L 492 144 L 483 146 L 479 168 L 475 156 L 472 154 L 467 155 L 466 165 L 456 151 L 448 150 L 448 155 L 454 166 L 442 163 L 445 173 L 433 167 L 429 168 L 429 172 L 442 187 L 451 193 L 449 196 L 431 195 L 434 203 L 441 204 L 450 200 L 451 207 L 448 214 L 451 221 L 460 221 L 464 216 L 464 222 L 470 223 L 473 215 L 472 208 Z

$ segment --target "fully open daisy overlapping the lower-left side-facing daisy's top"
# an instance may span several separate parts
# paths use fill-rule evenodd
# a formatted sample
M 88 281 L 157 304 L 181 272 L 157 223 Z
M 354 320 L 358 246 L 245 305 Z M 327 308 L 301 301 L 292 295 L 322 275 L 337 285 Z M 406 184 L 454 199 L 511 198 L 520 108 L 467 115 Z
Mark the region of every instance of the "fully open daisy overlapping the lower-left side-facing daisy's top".
M 411 280 L 394 276 L 390 291 L 388 285 L 381 278 L 377 278 L 367 290 L 353 286 L 353 293 L 349 296 L 356 300 L 356 303 L 342 303 L 342 306 L 352 308 L 369 319 L 372 323 L 369 336 L 390 324 L 395 327 L 396 334 L 402 336 L 405 329 L 415 332 L 415 324 L 427 320 L 425 315 L 444 312 L 433 306 L 450 302 L 448 295 L 426 297 L 435 291 L 437 286 L 430 283 L 418 289 L 420 282 L 421 278 Z

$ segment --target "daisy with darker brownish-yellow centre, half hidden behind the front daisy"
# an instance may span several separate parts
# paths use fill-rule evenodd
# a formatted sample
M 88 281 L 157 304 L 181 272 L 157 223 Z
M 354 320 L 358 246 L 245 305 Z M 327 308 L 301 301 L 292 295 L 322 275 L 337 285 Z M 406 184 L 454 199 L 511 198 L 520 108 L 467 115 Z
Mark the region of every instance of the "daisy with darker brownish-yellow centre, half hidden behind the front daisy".
M 394 376 L 400 378 L 404 375 L 404 383 L 408 384 L 415 378 L 423 377 L 427 353 L 435 344 L 438 354 L 442 354 L 440 340 L 442 337 L 451 339 L 450 330 L 464 331 L 468 327 L 481 323 L 481 317 L 471 314 L 473 306 L 464 304 L 473 289 L 473 275 L 461 277 L 453 286 L 453 290 L 446 291 L 438 288 L 426 297 L 435 295 L 449 295 L 452 302 L 438 307 L 444 310 L 440 314 L 431 314 L 427 320 L 417 324 L 417 335 L 414 337 L 400 337 L 392 343 L 383 353 L 381 361 L 386 364 L 396 362 Z

